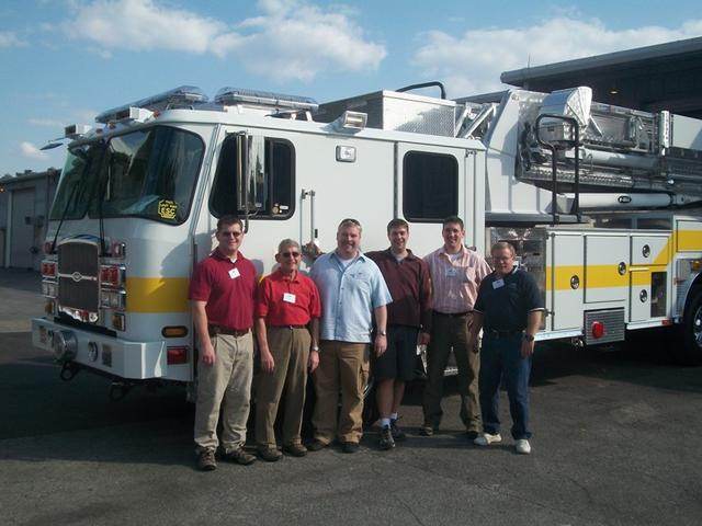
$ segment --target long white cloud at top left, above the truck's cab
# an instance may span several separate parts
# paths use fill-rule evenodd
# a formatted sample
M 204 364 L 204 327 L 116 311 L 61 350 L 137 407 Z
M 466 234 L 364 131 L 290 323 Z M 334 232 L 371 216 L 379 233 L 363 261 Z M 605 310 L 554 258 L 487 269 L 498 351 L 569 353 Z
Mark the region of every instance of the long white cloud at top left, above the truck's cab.
M 386 56 L 382 44 L 363 37 L 354 10 L 343 5 L 326 10 L 305 0 L 260 0 L 260 14 L 235 25 L 156 0 L 95 0 L 73 8 L 64 31 L 99 45 L 103 58 L 117 49 L 213 54 L 278 80 L 310 80 L 321 71 L 374 70 Z

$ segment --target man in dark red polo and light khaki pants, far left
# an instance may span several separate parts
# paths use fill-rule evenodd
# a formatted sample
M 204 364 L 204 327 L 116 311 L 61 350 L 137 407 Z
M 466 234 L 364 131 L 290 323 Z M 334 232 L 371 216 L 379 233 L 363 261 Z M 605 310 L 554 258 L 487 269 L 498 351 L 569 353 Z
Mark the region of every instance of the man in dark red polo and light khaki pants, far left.
M 195 445 L 197 468 L 216 469 L 217 422 L 222 408 L 222 458 L 249 465 L 244 450 L 253 374 L 253 295 L 256 270 L 244 258 L 241 220 L 217 221 L 218 245 L 195 267 L 190 282 L 193 324 L 197 334 L 197 403 Z

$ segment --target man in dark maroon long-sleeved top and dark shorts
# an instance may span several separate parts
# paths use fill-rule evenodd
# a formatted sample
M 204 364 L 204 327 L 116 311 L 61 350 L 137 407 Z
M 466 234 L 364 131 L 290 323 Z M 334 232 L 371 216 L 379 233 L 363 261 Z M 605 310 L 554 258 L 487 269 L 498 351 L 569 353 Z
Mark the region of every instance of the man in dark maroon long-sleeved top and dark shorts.
M 431 331 L 431 284 L 427 264 L 407 249 L 409 225 L 404 219 L 387 224 L 390 247 L 366 252 L 383 273 L 393 302 L 387 306 L 387 350 L 377 357 L 373 375 L 377 380 L 377 407 L 381 413 L 381 449 L 392 449 L 405 439 L 397 425 L 397 411 L 411 380 L 417 361 L 417 344 L 429 343 Z

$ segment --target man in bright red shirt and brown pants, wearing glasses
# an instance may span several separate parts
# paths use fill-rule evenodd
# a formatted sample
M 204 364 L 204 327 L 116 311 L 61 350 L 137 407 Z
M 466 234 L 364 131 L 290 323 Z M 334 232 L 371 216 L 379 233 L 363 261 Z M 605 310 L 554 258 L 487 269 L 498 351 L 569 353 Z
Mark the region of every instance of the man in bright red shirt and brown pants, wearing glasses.
M 278 245 L 280 268 L 259 284 L 256 298 L 256 338 L 262 374 L 256 403 L 256 442 L 259 456 L 273 462 L 281 458 L 273 424 L 283 389 L 283 451 L 304 457 L 299 431 L 305 407 L 307 367 L 319 364 L 319 316 L 321 306 L 315 283 L 297 272 L 299 243 L 284 239 Z

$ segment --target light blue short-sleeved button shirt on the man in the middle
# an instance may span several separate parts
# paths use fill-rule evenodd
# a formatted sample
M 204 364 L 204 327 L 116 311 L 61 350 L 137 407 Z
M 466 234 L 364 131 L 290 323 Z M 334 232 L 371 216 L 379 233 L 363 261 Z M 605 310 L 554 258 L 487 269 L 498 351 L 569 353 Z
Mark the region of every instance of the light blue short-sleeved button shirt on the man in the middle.
M 370 343 L 373 310 L 393 300 L 373 260 L 359 253 L 344 267 L 330 252 L 315 261 L 310 277 L 321 297 L 320 339 Z

